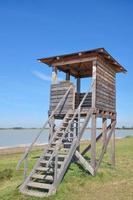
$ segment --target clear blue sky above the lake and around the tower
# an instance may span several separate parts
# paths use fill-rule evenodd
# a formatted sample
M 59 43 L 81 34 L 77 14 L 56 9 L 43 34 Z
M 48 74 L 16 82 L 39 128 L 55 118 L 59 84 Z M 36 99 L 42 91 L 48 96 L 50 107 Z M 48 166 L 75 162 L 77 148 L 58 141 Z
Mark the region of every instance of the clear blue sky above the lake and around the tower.
M 40 127 L 51 76 L 37 58 L 104 47 L 128 70 L 117 75 L 118 126 L 133 126 L 132 0 L 0 0 L 0 127 Z M 62 76 L 62 75 L 60 75 Z

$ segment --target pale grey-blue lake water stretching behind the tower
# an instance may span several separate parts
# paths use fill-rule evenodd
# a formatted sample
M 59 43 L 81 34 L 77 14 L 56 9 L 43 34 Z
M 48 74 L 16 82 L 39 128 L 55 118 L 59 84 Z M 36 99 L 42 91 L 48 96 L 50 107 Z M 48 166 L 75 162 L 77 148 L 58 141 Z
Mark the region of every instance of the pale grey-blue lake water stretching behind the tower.
M 29 145 L 39 132 L 39 129 L 0 130 L 0 147 Z M 101 130 L 97 130 L 101 132 Z M 116 137 L 133 136 L 133 130 L 116 130 Z M 90 139 L 90 130 L 85 130 L 83 139 Z M 48 129 L 39 138 L 37 144 L 48 142 Z

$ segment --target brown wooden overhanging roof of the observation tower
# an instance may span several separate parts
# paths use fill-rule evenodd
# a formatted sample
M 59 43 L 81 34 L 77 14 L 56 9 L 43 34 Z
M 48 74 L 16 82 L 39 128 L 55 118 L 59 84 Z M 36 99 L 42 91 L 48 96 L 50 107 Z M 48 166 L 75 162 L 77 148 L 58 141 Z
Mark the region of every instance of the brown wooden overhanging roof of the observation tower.
M 40 58 L 38 61 L 80 78 L 92 76 L 93 61 L 101 61 L 107 67 L 111 66 L 116 73 L 127 72 L 104 48 Z

